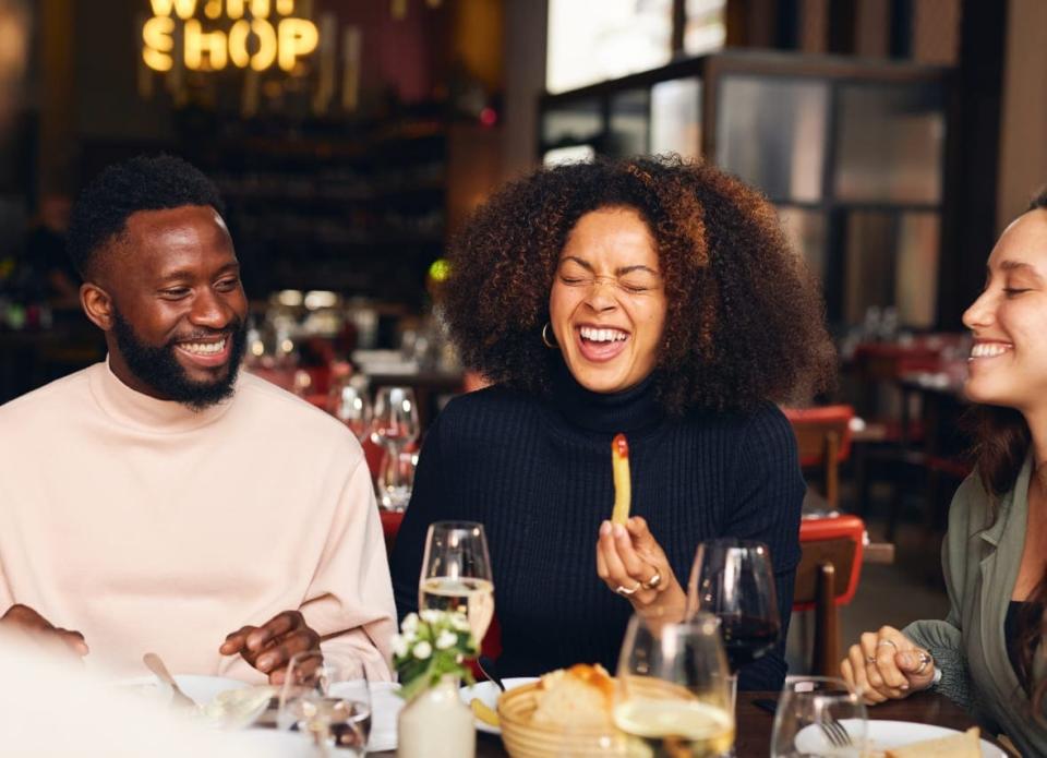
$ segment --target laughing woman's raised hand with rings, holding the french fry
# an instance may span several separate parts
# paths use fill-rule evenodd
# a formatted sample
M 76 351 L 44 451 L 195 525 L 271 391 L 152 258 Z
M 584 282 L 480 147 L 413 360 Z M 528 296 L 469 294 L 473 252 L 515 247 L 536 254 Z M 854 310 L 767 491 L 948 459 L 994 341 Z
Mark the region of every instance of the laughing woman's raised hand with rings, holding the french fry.
M 624 525 L 600 525 L 597 574 L 637 611 L 657 609 L 683 619 L 687 593 L 641 517 L 634 516 Z

